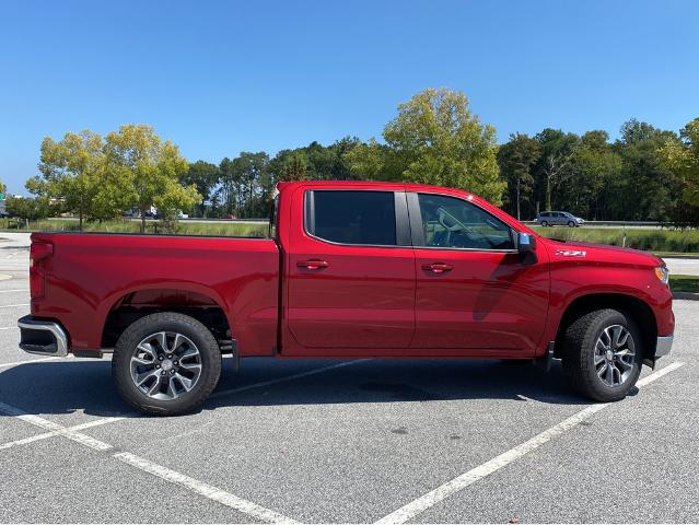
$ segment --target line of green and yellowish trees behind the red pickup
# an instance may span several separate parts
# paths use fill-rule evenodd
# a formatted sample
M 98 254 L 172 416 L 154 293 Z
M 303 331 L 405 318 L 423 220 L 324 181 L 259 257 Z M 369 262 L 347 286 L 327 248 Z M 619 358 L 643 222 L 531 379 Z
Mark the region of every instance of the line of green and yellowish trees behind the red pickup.
M 81 224 L 151 207 L 165 220 L 179 210 L 260 218 L 277 182 L 370 179 L 467 189 L 522 220 L 554 209 L 589 220 L 699 223 L 699 118 L 679 132 L 632 118 L 615 141 L 603 130 L 547 128 L 498 144 L 463 93 L 427 89 L 398 106 L 382 139 L 188 163 L 144 125 L 104 138 L 89 130 L 47 137 L 39 175 L 26 183 L 35 198 L 9 199 L 8 209 L 20 217 L 69 211 Z

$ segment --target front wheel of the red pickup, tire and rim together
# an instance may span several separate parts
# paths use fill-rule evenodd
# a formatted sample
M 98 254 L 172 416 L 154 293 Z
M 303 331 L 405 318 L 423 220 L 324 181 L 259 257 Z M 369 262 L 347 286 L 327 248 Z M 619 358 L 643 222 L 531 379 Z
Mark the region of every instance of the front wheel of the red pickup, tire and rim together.
M 591 399 L 624 399 L 641 373 L 641 345 L 629 315 L 611 308 L 590 312 L 566 330 L 563 371 L 571 386 Z

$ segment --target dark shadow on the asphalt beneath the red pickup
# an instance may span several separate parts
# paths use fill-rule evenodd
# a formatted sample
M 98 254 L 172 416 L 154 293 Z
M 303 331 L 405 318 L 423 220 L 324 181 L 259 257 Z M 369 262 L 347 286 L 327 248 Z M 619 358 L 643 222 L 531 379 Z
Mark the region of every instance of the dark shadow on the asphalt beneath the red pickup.
M 467 399 L 535 400 L 551 405 L 590 402 L 568 388 L 559 363 L 545 373 L 527 363 L 494 360 L 361 360 L 313 372 L 340 362 L 247 359 L 235 373 L 230 360 L 224 360 L 219 386 L 202 410 Z M 284 380 L 296 374 L 305 375 Z M 84 411 L 100 417 L 141 417 L 118 396 L 109 361 L 55 361 L 14 366 L 0 373 L 0 401 L 34 415 Z

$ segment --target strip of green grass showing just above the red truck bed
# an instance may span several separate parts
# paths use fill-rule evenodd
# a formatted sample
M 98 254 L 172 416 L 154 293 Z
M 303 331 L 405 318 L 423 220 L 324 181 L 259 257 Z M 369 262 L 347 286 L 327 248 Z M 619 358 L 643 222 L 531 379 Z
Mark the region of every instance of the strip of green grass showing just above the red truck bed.
M 28 228 L 22 223 L 18 228 L 16 221 L 11 219 L 0 220 L 0 231 L 7 232 L 78 232 L 78 221 L 67 220 L 39 220 L 30 221 Z M 89 222 L 83 224 L 84 232 L 105 233 L 139 233 L 140 222 L 129 220 L 116 220 L 104 222 Z M 158 221 L 145 223 L 145 233 L 174 233 L 177 235 L 212 235 L 223 237 L 264 237 L 267 235 L 267 224 L 246 224 L 234 222 L 186 222 L 177 223 L 175 231 L 168 232 Z

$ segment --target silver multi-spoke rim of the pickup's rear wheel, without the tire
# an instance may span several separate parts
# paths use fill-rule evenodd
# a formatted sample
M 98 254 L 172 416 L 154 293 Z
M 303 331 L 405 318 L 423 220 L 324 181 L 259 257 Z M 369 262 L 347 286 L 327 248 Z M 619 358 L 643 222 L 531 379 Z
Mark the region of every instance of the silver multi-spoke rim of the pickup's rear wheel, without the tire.
M 175 331 L 151 334 L 131 355 L 131 380 L 151 399 L 177 399 L 190 392 L 200 376 L 199 349 Z

